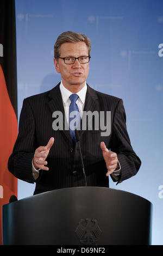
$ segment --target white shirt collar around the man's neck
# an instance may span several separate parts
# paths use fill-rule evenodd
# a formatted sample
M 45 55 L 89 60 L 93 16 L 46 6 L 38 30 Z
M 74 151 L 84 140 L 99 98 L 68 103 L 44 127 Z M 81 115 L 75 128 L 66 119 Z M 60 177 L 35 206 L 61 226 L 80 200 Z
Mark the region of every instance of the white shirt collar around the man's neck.
M 86 86 L 86 82 L 85 82 L 85 86 L 81 90 L 79 90 L 79 92 L 77 93 L 77 95 L 79 96 L 79 98 L 83 104 L 85 102 L 86 90 L 87 90 L 87 86 Z M 70 90 L 67 90 L 64 87 L 64 85 L 62 84 L 62 81 L 60 83 L 60 91 L 61 91 L 61 95 L 62 95 L 62 100 L 65 103 L 69 99 L 72 92 L 70 92 Z

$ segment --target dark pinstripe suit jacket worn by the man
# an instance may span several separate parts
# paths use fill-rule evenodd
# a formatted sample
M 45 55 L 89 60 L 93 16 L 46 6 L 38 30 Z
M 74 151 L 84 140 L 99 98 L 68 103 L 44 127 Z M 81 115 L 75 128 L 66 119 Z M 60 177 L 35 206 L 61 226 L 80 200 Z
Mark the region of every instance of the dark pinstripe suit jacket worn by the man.
M 59 84 L 46 93 L 24 99 L 18 137 L 8 161 L 9 171 L 18 179 L 36 182 L 34 194 L 57 188 L 84 186 L 78 144 L 73 145 L 69 130 L 54 131 L 52 128 L 52 113 L 64 113 Z M 87 186 L 109 187 L 101 141 L 117 153 L 121 164 L 118 182 L 135 175 L 141 161 L 130 144 L 122 99 L 97 92 L 87 85 L 84 111 L 111 111 L 110 136 L 101 137 L 100 130 L 79 131 Z M 40 170 L 39 178 L 35 181 L 32 173 L 35 149 L 46 145 L 50 137 L 54 137 L 55 141 L 47 157 L 49 170 Z

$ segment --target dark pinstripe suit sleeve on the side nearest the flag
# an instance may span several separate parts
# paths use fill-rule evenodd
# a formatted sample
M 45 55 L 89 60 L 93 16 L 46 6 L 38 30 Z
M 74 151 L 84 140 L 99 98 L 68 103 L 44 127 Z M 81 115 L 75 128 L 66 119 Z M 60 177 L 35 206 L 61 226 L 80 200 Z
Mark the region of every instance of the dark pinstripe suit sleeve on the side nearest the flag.
M 18 136 L 8 161 L 9 171 L 18 179 L 34 183 L 32 159 L 35 152 L 35 120 L 28 99 L 24 99 Z

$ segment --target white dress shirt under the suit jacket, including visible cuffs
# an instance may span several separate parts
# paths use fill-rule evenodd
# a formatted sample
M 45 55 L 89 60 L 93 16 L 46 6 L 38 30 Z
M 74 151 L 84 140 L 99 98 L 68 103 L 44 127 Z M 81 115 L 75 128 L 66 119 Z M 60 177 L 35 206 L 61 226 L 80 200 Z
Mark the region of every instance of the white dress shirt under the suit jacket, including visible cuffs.
M 83 116 L 83 111 L 84 111 L 84 104 L 85 104 L 85 97 L 86 97 L 86 90 L 87 90 L 87 85 L 85 82 L 85 86 L 79 90 L 78 93 L 76 93 L 79 97 L 76 101 L 77 106 L 79 108 L 79 113 L 80 113 L 80 117 L 82 118 Z M 71 100 L 70 100 L 70 95 L 72 94 L 72 92 L 70 92 L 70 90 L 67 90 L 64 85 L 62 84 L 62 81 L 60 83 L 60 92 L 61 92 L 61 96 L 62 96 L 62 101 L 63 101 L 63 105 L 64 105 L 64 109 L 65 109 L 65 115 L 66 115 L 66 120 L 67 120 L 67 124 L 69 125 L 69 107 L 71 104 Z M 118 161 L 119 166 L 120 166 L 120 162 Z M 39 170 L 35 169 L 35 167 L 33 166 L 33 161 L 32 161 L 32 170 L 33 170 L 33 176 L 34 179 L 36 180 L 39 176 Z M 118 170 L 115 170 L 111 175 L 112 177 L 115 179 L 115 181 L 118 181 L 118 176 L 121 173 L 121 166 Z

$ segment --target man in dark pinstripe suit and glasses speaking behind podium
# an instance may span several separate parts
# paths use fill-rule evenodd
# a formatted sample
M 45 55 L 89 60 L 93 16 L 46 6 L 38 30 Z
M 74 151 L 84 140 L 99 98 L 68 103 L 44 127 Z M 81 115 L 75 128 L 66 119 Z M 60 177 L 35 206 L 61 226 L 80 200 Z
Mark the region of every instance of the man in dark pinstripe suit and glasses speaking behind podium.
M 118 184 L 140 168 L 141 161 L 130 144 L 122 99 L 97 92 L 86 84 L 90 50 L 90 39 L 83 34 L 68 31 L 59 35 L 54 45 L 54 65 L 61 82 L 52 90 L 23 101 L 8 168 L 18 179 L 36 182 L 34 194 L 85 185 L 74 129 L 65 129 L 73 120 L 73 111 L 82 120 L 88 111 L 111 113 L 109 135 L 102 136 L 101 126 L 96 129 L 95 124 L 92 129 L 79 130 L 87 186 L 109 187 L 109 175 Z M 64 129 L 53 126 L 57 118 L 54 113 L 64 115 Z M 76 127 L 80 118 L 76 119 Z M 106 115 L 104 121 L 108 122 Z

